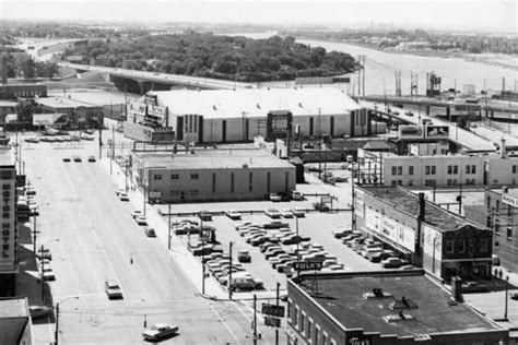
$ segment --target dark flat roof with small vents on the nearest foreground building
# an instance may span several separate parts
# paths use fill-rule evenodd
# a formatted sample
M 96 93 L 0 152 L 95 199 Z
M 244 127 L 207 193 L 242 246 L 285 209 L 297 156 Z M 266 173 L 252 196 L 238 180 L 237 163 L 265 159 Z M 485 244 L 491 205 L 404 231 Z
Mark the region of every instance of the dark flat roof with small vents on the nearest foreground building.
M 345 329 L 363 329 L 364 332 L 414 336 L 448 332 L 479 332 L 501 330 L 463 304 L 448 305 L 450 294 L 424 275 L 422 270 L 405 273 L 387 272 L 345 273 L 332 277 L 318 276 L 318 295 L 314 281 L 307 275 L 297 284 Z M 374 288 L 381 288 L 392 297 L 366 298 Z M 415 309 L 404 309 L 412 320 L 386 321 L 398 316 L 390 306 L 405 297 Z

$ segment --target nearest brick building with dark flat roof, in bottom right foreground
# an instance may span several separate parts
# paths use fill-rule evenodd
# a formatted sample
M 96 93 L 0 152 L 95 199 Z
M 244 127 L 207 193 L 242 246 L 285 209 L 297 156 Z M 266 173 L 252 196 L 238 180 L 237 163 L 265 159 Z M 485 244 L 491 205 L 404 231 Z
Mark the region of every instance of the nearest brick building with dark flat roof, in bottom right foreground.
M 461 297 L 422 270 L 303 274 L 287 281 L 287 344 L 508 344 Z

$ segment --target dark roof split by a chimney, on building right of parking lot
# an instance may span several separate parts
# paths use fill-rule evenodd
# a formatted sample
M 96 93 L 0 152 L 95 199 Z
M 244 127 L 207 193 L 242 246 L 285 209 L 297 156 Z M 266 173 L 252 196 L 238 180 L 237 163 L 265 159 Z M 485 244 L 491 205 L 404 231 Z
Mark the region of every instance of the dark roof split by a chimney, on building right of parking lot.
M 419 195 L 404 190 L 399 187 L 384 186 L 384 187 L 362 187 L 366 192 L 374 197 L 384 200 L 386 203 L 392 205 L 397 210 L 401 210 L 414 216 L 419 215 Z M 436 206 L 429 202 L 425 203 L 424 221 L 434 225 L 440 231 L 456 230 L 464 225 L 473 225 L 471 222 L 462 217 L 456 216 L 452 213 Z M 476 227 L 480 227 L 476 225 Z

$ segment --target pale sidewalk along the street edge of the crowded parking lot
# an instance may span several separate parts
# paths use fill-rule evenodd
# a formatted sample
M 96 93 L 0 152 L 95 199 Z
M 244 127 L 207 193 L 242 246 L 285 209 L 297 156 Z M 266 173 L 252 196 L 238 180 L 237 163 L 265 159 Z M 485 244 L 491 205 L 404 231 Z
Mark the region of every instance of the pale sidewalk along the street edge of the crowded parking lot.
M 110 159 L 106 157 L 105 151 L 103 152 L 103 158 L 98 160 L 106 171 L 110 171 Z M 111 178 L 114 180 L 114 190 L 125 189 L 126 188 L 126 176 L 122 168 L 114 160 L 113 163 L 113 174 Z M 130 198 L 130 203 L 133 205 L 134 210 L 142 210 L 144 204 L 144 194 L 138 188 L 131 190 L 132 181 L 128 179 L 128 195 Z M 136 186 L 136 185 L 134 185 Z M 143 211 L 143 210 L 142 210 Z M 167 236 L 168 236 L 168 222 L 167 218 L 162 217 L 158 214 L 158 210 L 153 207 L 153 205 L 146 204 L 145 216 L 148 223 L 156 231 L 157 239 L 162 242 L 164 248 L 167 248 Z M 184 270 L 186 276 L 192 282 L 197 290 L 201 295 L 202 290 L 202 265 L 201 262 L 192 255 L 186 248 L 186 246 L 180 241 L 178 237 L 172 234 L 170 236 L 170 255 L 178 263 L 178 265 Z M 258 299 L 272 299 L 275 298 L 276 293 L 274 290 L 257 290 L 257 292 L 247 292 L 247 293 L 234 293 L 233 300 L 251 300 L 254 295 Z M 228 290 L 223 288 L 219 282 L 216 282 L 212 276 L 205 278 L 205 294 L 204 297 L 211 298 L 214 300 L 228 300 Z

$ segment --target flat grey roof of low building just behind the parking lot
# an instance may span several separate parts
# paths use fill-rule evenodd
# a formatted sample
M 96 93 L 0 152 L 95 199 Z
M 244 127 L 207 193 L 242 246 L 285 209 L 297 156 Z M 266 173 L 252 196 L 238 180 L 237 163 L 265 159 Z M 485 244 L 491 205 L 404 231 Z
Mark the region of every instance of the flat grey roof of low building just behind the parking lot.
M 263 150 L 196 150 L 195 154 L 136 153 L 146 167 L 166 169 L 283 168 L 293 167 Z

